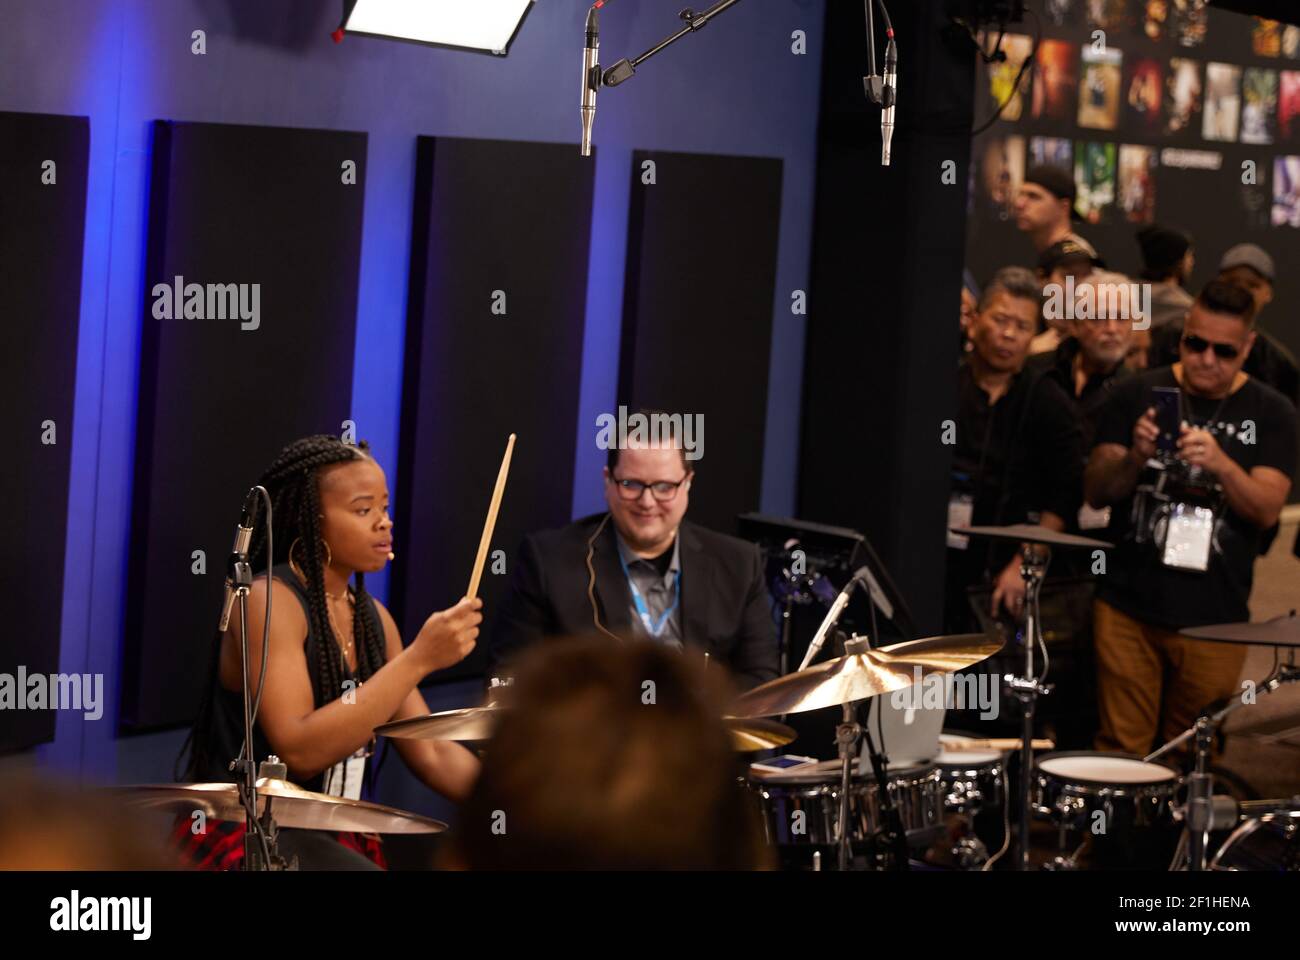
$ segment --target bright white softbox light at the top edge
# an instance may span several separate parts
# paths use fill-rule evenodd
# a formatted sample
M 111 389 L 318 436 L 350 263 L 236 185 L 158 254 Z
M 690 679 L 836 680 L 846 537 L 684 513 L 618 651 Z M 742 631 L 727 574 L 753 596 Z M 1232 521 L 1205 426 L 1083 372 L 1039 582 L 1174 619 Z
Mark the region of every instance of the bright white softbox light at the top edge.
M 533 0 L 355 0 L 343 33 L 506 56 Z

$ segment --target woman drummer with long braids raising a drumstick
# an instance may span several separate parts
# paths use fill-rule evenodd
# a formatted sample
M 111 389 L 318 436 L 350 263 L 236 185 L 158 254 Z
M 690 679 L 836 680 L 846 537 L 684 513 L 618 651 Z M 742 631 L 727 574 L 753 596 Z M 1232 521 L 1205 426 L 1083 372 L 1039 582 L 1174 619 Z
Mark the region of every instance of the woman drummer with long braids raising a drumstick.
M 402 647 L 393 615 L 365 591 L 365 574 L 382 570 L 391 557 L 393 520 L 384 471 L 364 441 L 354 446 L 328 434 L 298 440 L 259 483 L 272 500 L 274 557 L 266 557 L 265 527 L 259 526 L 248 554 L 255 571 L 248 593 L 254 691 L 263 683 L 268 563 L 274 579 L 265 691 L 254 730 L 256 758 L 274 753 L 287 765 L 289 779 L 306 790 L 359 799 L 374 727 L 429 713 L 417 684 L 473 649 L 482 601 L 464 598 L 433 614 L 411 645 Z M 243 744 L 240 661 L 237 613 L 216 639 L 182 779 L 233 779 L 229 765 Z M 460 744 L 393 743 L 434 791 L 456 801 L 469 793 L 478 761 Z M 243 829 L 242 822 L 209 822 L 196 833 L 186 820 L 176 839 L 191 865 L 231 869 L 243 856 Z M 280 847 L 281 855 L 298 852 L 304 866 L 370 865 L 351 851 L 384 865 L 377 838 L 369 835 L 286 830 Z

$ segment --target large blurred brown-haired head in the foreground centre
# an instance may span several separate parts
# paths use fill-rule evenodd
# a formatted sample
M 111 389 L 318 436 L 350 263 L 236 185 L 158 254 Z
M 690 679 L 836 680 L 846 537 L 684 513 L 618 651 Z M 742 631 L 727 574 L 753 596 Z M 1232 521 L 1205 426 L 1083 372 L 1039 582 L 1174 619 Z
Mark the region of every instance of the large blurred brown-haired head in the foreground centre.
M 450 866 L 751 870 L 770 865 L 722 723 L 723 670 L 653 643 L 520 660 Z

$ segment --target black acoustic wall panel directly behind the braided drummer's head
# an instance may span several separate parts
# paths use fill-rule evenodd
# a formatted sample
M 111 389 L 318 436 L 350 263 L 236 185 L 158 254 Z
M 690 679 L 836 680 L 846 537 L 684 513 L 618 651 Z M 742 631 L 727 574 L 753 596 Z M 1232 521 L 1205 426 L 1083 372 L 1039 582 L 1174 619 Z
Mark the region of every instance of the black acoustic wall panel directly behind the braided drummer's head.
M 334 130 L 155 124 L 125 728 L 192 718 L 244 492 L 286 444 L 350 419 L 365 146 Z M 177 276 L 248 285 L 250 298 L 259 285 L 256 329 L 156 317 L 155 285 Z

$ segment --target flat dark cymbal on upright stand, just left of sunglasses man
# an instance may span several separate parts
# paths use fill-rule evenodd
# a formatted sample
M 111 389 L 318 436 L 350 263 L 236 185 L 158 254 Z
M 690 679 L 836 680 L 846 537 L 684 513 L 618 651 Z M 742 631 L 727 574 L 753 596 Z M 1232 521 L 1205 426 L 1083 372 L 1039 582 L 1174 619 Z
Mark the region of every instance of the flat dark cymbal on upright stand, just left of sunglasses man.
M 1052 559 L 1049 546 L 1108 549 L 1112 544 L 1091 537 L 1060 533 L 1037 524 L 1017 523 L 1008 527 L 952 527 L 954 533 L 983 536 L 994 540 L 1009 540 L 1020 544 L 1020 579 L 1024 580 L 1024 674 L 1008 674 L 1002 678 L 1008 696 L 1020 704 L 1020 790 L 1019 790 L 1019 865 L 1030 869 L 1030 780 L 1034 777 L 1034 712 L 1040 696 L 1052 692 L 1050 684 L 1044 684 L 1050 661 L 1046 643 L 1043 639 L 1043 624 L 1039 617 L 1039 593 Z M 1035 674 L 1034 647 L 1043 650 L 1043 673 Z

